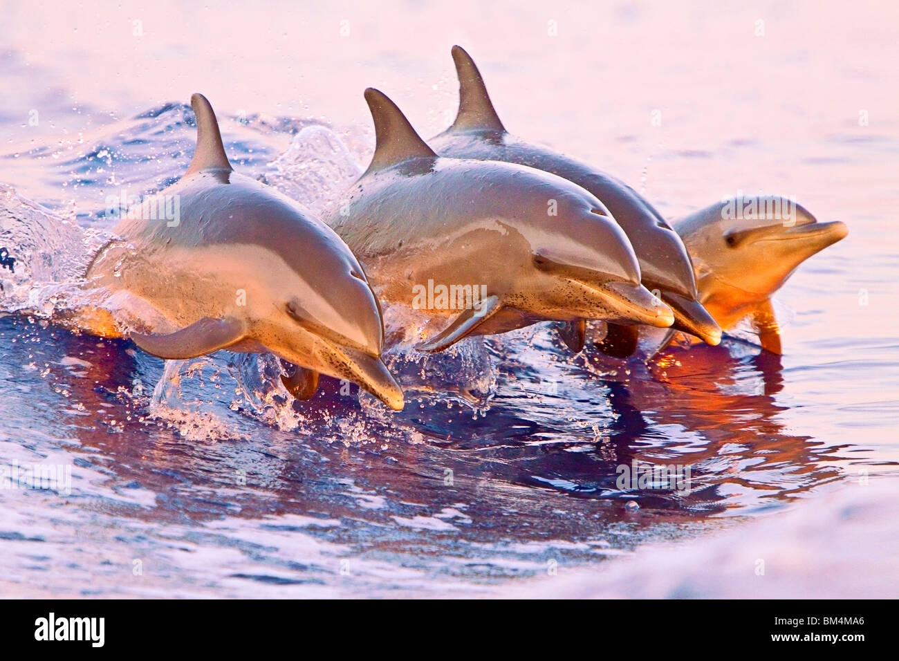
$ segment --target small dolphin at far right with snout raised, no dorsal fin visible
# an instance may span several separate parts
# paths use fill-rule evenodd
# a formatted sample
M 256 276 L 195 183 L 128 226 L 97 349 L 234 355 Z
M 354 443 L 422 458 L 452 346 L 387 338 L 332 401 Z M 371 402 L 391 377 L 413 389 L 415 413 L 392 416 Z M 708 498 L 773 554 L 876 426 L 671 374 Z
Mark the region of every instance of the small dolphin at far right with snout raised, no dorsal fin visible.
M 805 207 L 779 195 L 725 198 L 675 228 L 690 251 L 699 300 L 718 325 L 727 331 L 750 317 L 762 348 L 777 354 L 780 331 L 771 296 L 799 264 L 849 233 L 845 223 L 818 222 Z

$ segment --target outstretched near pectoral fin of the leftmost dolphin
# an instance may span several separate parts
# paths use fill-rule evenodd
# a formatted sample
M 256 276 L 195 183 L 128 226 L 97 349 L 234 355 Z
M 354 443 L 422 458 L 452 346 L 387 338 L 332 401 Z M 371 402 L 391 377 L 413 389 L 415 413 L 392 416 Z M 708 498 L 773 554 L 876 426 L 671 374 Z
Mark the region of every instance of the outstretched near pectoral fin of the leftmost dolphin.
M 152 356 L 183 360 L 225 349 L 243 340 L 245 335 L 246 325 L 239 319 L 203 317 L 168 335 L 131 333 L 130 338 Z

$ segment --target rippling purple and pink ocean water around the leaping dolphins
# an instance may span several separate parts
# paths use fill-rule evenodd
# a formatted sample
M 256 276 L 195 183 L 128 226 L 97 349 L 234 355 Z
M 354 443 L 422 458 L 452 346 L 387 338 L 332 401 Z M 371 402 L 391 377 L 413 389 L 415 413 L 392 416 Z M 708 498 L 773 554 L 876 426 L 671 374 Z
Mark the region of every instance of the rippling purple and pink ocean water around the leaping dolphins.
M 696 594 L 701 566 L 699 592 L 727 595 L 741 561 L 718 580 L 691 554 L 734 550 L 760 524 L 822 532 L 803 557 L 833 594 L 868 566 L 899 592 L 883 572 L 895 514 L 878 507 L 899 461 L 892 5 L 3 11 L 0 247 L 18 261 L 0 270 L 0 467 L 70 480 L 0 488 L 0 595 L 581 596 L 585 573 L 628 595 L 622 563 L 646 549 L 684 576 L 661 594 Z M 269 356 L 164 363 L 47 322 L 114 225 L 106 198 L 183 173 L 192 92 L 238 171 L 318 211 L 368 164 L 365 86 L 425 138 L 449 124 L 453 43 L 510 130 L 616 174 L 669 219 L 743 191 L 846 222 L 775 298 L 784 354 L 750 338 L 619 362 L 532 326 L 436 356 L 394 348 L 407 404 L 393 413 L 328 379 L 291 402 Z M 634 461 L 688 466 L 690 489 L 620 488 Z M 834 497 L 870 499 L 884 543 L 864 567 L 852 549 L 866 545 L 832 544 L 859 522 L 819 516 Z M 631 594 L 659 594 L 639 576 Z M 797 596 L 814 576 L 794 575 Z

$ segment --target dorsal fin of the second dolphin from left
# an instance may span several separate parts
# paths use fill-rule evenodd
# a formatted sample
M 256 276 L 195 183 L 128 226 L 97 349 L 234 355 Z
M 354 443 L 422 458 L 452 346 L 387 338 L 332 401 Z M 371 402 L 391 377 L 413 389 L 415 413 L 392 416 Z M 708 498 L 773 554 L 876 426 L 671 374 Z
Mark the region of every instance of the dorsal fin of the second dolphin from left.
M 375 122 L 375 155 L 371 157 L 371 165 L 366 174 L 409 158 L 437 157 L 386 94 L 369 87 L 365 90 L 365 100 L 369 103 L 371 119 Z

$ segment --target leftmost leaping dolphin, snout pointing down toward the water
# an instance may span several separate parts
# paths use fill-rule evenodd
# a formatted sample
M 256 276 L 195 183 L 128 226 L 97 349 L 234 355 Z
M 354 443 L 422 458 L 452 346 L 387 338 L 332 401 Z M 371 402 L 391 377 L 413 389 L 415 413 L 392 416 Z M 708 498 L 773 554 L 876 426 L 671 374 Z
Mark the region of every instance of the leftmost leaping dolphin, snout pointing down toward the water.
M 85 288 L 107 292 L 105 309 L 131 316 L 134 330 L 120 335 L 151 355 L 271 352 L 295 397 L 311 397 L 323 373 L 402 409 L 380 360 L 378 300 L 350 248 L 297 202 L 236 174 L 209 101 L 193 94 L 191 106 L 197 148 L 187 173 L 129 209 L 113 230 L 121 238 L 88 266 Z M 156 219 L 162 205 L 179 217 Z M 87 318 L 99 335 L 116 335 L 108 315 Z

